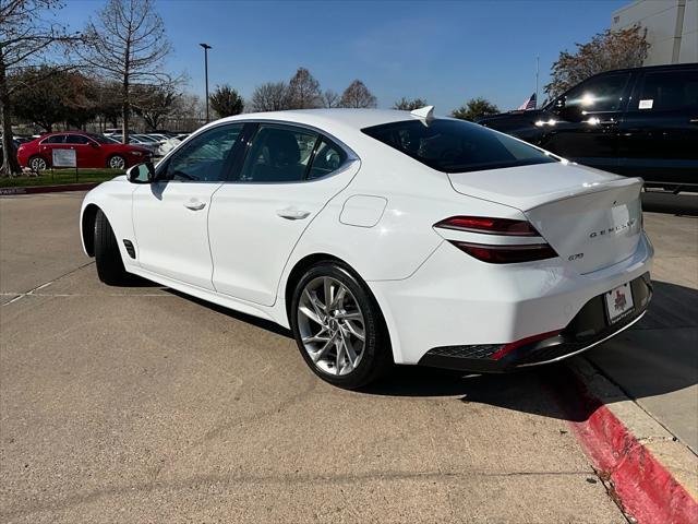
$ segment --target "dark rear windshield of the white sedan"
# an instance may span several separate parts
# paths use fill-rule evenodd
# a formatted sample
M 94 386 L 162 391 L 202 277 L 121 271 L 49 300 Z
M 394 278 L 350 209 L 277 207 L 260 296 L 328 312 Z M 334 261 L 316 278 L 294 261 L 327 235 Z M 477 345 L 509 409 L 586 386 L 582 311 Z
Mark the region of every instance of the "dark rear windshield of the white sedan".
M 384 123 L 362 130 L 369 136 L 445 172 L 480 171 L 557 162 L 554 156 L 462 120 Z

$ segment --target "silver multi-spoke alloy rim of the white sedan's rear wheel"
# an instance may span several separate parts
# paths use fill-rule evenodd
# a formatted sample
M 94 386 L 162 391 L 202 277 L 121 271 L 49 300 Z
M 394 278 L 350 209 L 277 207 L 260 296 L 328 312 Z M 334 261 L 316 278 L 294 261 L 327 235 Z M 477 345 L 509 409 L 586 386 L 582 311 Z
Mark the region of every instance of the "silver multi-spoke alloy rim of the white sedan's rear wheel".
M 303 348 L 317 369 L 344 376 L 359 366 L 365 324 L 347 286 L 329 276 L 313 278 L 303 288 L 297 314 Z

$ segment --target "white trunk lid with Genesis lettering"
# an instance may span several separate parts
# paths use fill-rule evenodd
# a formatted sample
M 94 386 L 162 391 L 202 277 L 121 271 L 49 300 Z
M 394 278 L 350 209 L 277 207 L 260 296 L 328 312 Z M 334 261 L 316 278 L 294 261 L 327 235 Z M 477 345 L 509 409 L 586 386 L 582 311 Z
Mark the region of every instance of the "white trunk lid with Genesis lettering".
M 579 273 L 630 257 L 641 235 L 642 181 L 564 164 L 449 175 L 459 193 L 524 212 Z

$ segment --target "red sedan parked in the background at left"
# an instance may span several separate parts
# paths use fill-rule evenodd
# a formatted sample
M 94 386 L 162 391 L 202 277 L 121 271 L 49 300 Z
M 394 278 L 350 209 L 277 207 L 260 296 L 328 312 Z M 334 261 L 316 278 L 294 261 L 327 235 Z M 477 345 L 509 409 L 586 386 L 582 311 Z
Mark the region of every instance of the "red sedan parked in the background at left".
M 74 150 L 77 167 L 127 167 L 149 160 L 153 153 L 137 145 L 120 144 L 99 134 L 81 131 L 47 133 L 22 144 L 17 150 L 17 160 L 22 167 L 40 171 L 51 166 L 55 150 Z

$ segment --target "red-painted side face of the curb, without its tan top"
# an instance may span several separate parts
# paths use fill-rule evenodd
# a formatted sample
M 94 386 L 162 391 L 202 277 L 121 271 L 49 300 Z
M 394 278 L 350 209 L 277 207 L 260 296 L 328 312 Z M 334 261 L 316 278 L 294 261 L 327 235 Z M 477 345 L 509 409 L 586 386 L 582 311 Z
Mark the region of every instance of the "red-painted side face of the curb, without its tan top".
M 574 412 L 569 424 L 600 476 L 612 483 L 625 511 L 639 524 L 697 523 L 698 503 L 578 374 L 567 373 L 558 390 L 565 408 Z

